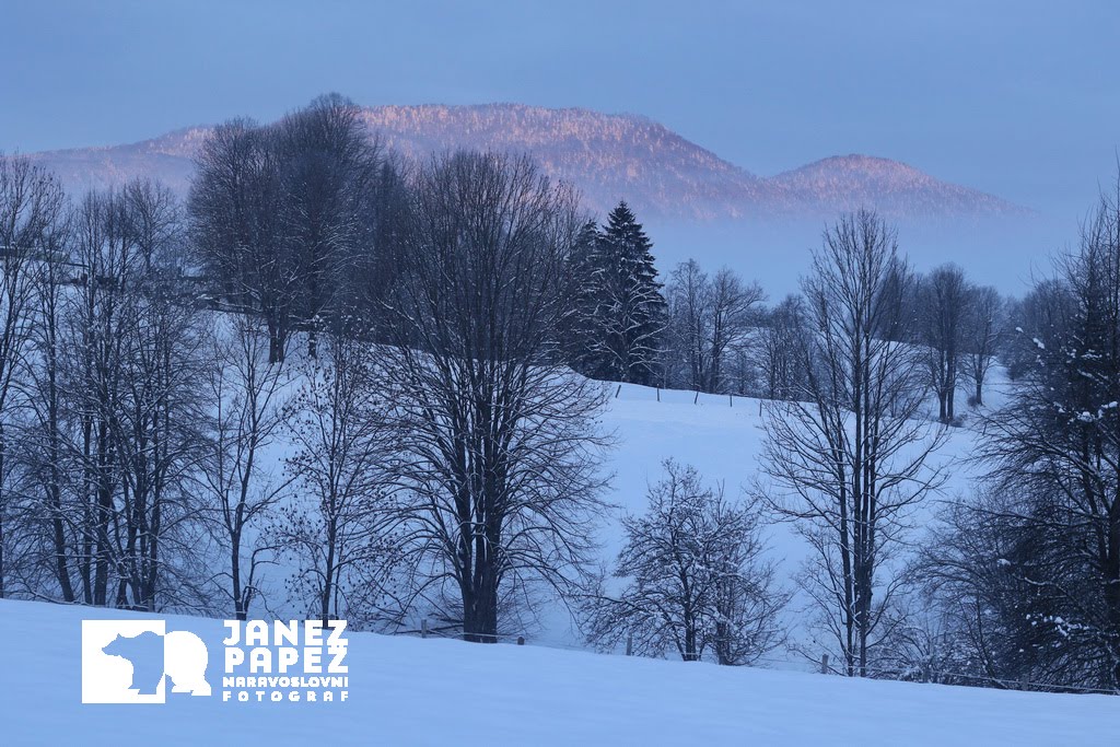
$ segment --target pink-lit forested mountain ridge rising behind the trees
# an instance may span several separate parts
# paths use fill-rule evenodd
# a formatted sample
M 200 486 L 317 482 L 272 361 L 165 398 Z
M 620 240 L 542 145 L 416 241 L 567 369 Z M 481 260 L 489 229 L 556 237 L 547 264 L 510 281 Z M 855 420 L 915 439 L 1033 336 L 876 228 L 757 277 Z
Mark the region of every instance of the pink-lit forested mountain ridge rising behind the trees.
M 832 156 L 763 178 L 654 120 L 580 108 L 517 103 L 363 109 L 390 147 L 412 158 L 470 148 L 528 152 L 578 187 L 605 214 L 625 198 L 642 216 L 711 220 L 832 216 L 874 207 L 902 218 L 960 218 L 1024 212 L 913 166 L 875 156 Z M 150 176 L 186 192 L 193 158 L 211 131 L 189 127 L 138 143 L 35 153 L 73 189 Z

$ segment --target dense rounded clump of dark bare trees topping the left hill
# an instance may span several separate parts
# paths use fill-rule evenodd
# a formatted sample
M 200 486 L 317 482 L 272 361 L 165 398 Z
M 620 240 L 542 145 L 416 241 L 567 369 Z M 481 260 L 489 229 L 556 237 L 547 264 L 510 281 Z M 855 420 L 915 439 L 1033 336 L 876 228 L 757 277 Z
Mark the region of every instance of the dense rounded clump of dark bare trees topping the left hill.
M 345 324 L 380 286 L 377 245 L 403 205 L 399 167 L 335 94 L 261 125 L 217 127 L 190 189 L 192 242 L 216 290 L 262 318 L 269 358 L 288 337 Z

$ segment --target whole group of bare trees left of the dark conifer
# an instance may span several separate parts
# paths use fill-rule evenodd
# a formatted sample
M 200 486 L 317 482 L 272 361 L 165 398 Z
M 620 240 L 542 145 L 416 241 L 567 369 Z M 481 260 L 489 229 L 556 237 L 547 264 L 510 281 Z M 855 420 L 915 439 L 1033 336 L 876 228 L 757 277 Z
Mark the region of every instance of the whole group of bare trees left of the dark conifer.
M 218 128 L 186 215 L 0 160 L 3 592 L 493 641 L 581 586 L 609 441 L 563 351 L 576 196 L 496 155 L 402 176 L 356 116 Z

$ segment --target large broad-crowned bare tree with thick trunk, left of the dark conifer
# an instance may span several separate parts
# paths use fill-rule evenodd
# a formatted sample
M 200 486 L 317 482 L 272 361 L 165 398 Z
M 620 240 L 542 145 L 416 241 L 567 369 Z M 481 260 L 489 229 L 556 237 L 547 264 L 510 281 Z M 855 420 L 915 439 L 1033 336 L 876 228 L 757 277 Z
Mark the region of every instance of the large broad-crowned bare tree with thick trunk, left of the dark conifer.
M 413 192 L 381 366 L 398 523 L 418 595 L 488 642 L 504 601 L 567 596 L 594 547 L 605 391 L 559 339 L 580 222 L 523 158 L 441 157 Z

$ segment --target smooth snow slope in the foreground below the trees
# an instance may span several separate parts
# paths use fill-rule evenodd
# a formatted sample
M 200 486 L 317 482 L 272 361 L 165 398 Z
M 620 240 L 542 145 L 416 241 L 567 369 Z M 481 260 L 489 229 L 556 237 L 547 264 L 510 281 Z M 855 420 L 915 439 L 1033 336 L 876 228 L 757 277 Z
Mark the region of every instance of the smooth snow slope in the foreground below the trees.
M 223 702 L 224 628 L 202 637 L 214 695 L 81 703 L 81 620 L 113 610 L 0 601 L 3 745 L 1114 745 L 1120 698 L 719 667 L 349 635 L 349 698 Z

